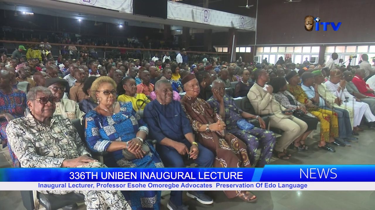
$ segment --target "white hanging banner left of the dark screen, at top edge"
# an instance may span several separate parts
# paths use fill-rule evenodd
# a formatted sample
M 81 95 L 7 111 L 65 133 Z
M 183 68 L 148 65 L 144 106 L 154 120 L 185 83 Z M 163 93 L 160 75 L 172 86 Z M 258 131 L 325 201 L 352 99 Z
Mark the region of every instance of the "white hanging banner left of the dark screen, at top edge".
M 124 13 L 133 13 L 133 0 L 57 0 L 72 4 L 101 7 Z

